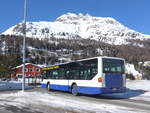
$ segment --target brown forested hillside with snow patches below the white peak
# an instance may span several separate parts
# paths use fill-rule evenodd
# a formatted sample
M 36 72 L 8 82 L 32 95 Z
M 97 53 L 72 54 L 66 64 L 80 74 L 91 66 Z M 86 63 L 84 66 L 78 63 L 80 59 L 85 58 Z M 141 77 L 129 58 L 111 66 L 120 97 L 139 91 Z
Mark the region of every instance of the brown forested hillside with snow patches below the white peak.
M 0 76 L 9 76 L 10 70 L 22 63 L 21 36 L 0 36 Z M 144 46 L 137 46 L 144 45 Z M 58 39 L 48 37 L 26 38 L 26 62 L 34 64 L 55 64 L 96 56 L 121 57 L 132 63 L 145 77 L 149 77 L 149 68 L 139 66 L 139 62 L 150 61 L 150 40 L 130 40 L 128 45 L 110 45 L 91 39 L 72 37 Z

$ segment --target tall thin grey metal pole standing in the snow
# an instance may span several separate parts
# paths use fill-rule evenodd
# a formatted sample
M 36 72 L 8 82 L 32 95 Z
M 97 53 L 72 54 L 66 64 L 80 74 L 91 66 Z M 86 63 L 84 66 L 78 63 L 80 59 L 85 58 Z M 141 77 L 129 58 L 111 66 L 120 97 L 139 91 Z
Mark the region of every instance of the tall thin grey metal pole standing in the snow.
M 23 19 L 23 69 L 22 69 L 22 91 L 25 89 L 25 59 L 26 59 L 26 16 L 27 16 L 27 0 L 24 0 L 24 19 Z

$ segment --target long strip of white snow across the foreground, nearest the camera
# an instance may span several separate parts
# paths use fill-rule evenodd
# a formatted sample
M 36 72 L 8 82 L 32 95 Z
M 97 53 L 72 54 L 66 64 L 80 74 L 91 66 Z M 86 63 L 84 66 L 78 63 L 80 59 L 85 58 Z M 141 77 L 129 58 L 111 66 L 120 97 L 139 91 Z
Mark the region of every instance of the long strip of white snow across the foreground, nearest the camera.
M 134 113 L 131 109 L 125 107 L 118 107 L 108 104 L 100 104 L 99 102 L 90 103 L 89 100 L 79 99 L 77 97 L 60 96 L 55 93 L 42 93 L 42 92 L 17 92 L 10 94 L 1 94 L 0 105 L 13 105 L 23 108 L 27 105 L 45 105 L 59 109 L 66 109 L 80 113 Z M 140 112 L 135 112 L 140 113 Z

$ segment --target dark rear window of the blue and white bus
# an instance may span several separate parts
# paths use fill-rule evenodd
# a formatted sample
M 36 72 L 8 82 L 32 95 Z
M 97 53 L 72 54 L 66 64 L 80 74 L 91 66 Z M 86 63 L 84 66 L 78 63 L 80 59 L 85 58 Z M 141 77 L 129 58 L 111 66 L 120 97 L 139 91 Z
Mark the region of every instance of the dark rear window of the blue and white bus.
M 124 60 L 103 58 L 103 73 L 124 73 Z

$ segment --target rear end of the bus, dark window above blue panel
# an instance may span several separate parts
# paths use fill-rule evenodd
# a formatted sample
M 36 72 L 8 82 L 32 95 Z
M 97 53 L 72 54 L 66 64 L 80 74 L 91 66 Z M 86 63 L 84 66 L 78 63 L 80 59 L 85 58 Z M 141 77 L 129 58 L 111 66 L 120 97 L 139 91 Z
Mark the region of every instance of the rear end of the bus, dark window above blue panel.
M 125 62 L 123 59 L 102 58 L 102 93 L 126 91 Z

